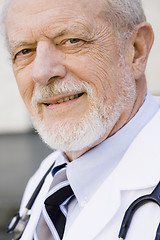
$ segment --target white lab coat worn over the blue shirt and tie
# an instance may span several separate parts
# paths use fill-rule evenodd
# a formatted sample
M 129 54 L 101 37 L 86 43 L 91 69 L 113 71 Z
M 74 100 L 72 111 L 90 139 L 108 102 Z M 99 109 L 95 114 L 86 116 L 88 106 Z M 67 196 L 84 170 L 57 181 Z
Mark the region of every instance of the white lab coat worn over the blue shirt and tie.
M 57 154 L 49 156 L 30 180 L 21 211 Z M 134 139 L 119 165 L 84 206 L 63 240 L 117 240 L 127 207 L 139 196 L 149 194 L 159 180 L 160 111 Z M 30 221 L 21 240 L 33 239 L 51 181 L 52 176 L 49 174 L 32 208 Z M 135 213 L 126 239 L 154 240 L 159 221 L 159 207 L 155 203 L 145 204 Z

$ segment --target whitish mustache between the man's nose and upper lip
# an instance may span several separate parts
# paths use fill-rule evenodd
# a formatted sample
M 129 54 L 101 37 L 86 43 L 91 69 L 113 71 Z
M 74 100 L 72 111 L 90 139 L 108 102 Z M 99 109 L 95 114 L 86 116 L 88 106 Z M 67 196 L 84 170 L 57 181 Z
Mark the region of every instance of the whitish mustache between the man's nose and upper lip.
M 86 92 L 91 93 L 91 86 L 86 82 L 71 80 L 71 81 L 61 81 L 55 80 L 49 85 L 35 86 L 33 96 L 32 96 L 32 104 L 37 105 L 45 98 L 54 97 L 59 94 L 68 94 L 68 93 L 76 93 L 76 92 Z

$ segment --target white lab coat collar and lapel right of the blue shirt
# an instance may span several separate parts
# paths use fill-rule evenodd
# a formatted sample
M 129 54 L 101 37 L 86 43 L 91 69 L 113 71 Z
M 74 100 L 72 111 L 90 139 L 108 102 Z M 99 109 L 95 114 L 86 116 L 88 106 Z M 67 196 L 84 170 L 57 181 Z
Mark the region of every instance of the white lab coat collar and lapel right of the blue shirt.
M 159 182 L 159 142 L 160 111 L 138 134 L 119 165 L 83 208 L 63 240 L 95 239 L 118 211 L 121 190 L 149 188 Z

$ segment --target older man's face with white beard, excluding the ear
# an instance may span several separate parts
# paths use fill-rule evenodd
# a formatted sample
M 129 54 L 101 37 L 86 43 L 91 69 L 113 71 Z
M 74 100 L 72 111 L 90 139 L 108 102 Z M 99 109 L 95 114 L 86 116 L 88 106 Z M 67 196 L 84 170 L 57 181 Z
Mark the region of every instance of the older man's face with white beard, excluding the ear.
M 78 151 L 113 134 L 135 101 L 102 1 L 12 0 L 7 34 L 22 98 L 42 138 Z

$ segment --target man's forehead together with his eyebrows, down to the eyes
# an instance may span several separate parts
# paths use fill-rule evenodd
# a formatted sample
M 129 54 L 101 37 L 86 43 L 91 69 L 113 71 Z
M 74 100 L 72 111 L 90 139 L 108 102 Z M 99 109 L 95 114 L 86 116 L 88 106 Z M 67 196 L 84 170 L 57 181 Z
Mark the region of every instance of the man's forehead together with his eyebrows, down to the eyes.
M 98 19 L 103 18 L 103 1 L 106 0 L 11 0 L 6 22 L 8 44 L 11 47 L 13 42 L 35 43 L 68 30 L 94 35 L 99 28 Z

